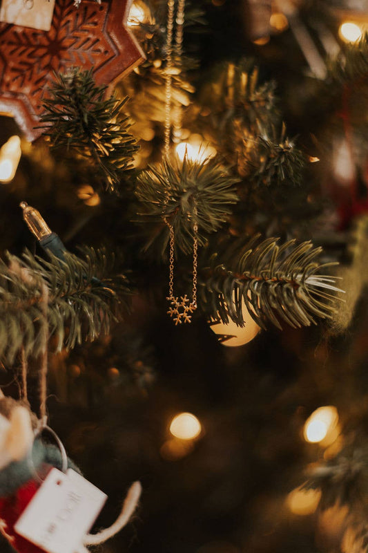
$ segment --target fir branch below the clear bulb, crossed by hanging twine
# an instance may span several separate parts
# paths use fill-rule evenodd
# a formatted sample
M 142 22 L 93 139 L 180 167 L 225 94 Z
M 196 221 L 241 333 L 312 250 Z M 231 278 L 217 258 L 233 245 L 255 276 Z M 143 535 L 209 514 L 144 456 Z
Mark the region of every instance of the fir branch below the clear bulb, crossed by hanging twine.
M 60 350 L 107 333 L 118 304 L 126 305 L 124 279 L 105 278 L 103 250 L 86 248 L 84 259 L 69 252 L 64 260 L 30 252 L 9 259 L 9 266 L 0 261 L 0 357 L 10 364 L 21 348 L 26 357 L 39 355 L 45 335 Z

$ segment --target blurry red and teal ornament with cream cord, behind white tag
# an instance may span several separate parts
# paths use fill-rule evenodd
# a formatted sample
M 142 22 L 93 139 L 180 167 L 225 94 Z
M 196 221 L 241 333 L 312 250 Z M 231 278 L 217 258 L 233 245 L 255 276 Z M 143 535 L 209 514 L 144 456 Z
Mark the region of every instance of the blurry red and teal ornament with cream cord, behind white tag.
M 67 465 L 80 474 L 70 459 L 64 462 L 65 456 L 59 448 L 34 439 L 36 424 L 37 419 L 26 404 L 4 397 L 0 389 L 0 533 L 18 553 L 44 553 L 17 534 L 14 525 L 50 470 L 54 467 L 65 470 L 63 465 Z M 134 482 L 115 523 L 98 534 L 86 534 L 84 542 L 71 553 L 88 553 L 86 545 L 99 545 L 115 536 L 130 521 L 141 489 L 139 482 Z

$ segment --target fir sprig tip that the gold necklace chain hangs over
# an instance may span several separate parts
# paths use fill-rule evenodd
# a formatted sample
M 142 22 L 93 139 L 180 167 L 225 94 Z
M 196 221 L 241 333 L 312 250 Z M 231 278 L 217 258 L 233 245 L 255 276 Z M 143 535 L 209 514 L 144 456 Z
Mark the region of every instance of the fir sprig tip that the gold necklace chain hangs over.
M 164 160 L 138 177 L 137 198 L 144 206 L 146 221 L 162 223 L 162 251 L 168 243 L 169 223 L 175 232 L 175 244 L 183 252 L 193 248 L 193 223 L 197 222 L 198 243 L 206 243 L 206 235 L 217 231 L 231 214 L 231 205 L 238 196 L 234 185 L 238 178 L 220 162 L 177 159 Z

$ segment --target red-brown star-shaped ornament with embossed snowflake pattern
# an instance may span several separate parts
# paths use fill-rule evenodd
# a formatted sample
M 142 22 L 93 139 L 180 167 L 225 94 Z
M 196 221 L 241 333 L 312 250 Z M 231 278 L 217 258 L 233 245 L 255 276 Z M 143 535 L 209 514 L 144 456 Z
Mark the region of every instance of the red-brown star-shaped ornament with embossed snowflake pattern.
M 113 84 L 144 55 L 126 27 L 132 0 L 101 4 L 56 0 L 49 31 L 0 23 L 0 112 L 13 115 L 28 140 L 41 135 L 39 116 L 53 73 L 93 68 L 97 84 Z

